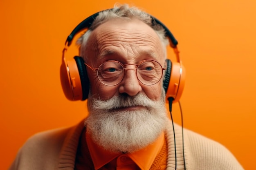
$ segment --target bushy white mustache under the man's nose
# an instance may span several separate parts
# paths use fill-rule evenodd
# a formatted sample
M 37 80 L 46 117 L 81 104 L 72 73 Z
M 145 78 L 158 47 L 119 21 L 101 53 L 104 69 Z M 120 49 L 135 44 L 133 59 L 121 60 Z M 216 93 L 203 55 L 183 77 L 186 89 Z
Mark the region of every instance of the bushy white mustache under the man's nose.
M 149 99 L 146 95 L 143 95 L 141 93 L 135 96 L 118 95 L 106 101 L 103 101 L 101 99 L 92 99 L 92 101 L 93 107 L 99 110 L 112 110 L 133 106 L 144 106 L 146 108 L 151 108 L 157 107 L 162 104 L 161 101 L 153 101 Z

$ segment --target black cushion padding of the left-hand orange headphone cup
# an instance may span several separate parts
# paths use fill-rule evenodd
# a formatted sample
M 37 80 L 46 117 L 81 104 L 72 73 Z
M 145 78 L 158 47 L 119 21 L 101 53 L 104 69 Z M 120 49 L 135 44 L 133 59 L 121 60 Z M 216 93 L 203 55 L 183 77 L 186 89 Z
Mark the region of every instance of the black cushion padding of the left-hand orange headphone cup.
M 83 61 L 82 57 L 75 56 L 74 60 L 76 61 L 76 65 L 79 71 L 80 75 L 80 80 L 81 80 L 81 87 L 82 87 L 82 92 L 83 92 L 83 97 L 82 100 L 85 100 L 88 98 L 89 94 L 89 78 L 87 75 L 86 67 Z

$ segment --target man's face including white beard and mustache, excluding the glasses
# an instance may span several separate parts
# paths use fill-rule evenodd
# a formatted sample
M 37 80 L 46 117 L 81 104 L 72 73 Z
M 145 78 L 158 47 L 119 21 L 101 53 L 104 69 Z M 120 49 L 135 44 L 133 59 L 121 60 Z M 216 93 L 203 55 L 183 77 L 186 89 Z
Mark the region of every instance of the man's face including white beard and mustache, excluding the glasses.
M 151 59 L 164 65 L 158 35 L 139 20 L 105 22 L 92 31 L 87 44 L 86 62 L 93 68 L 108 60 L 139 64 Z M 112 69 L 107 68 L 106 75 Z M 161 80 L 147 86 L 139 82 L 135 69 L 128 69 L 119 84 L 106 86 L 99 81 L 96 71 L 87 71 L 90 114 L 85 124 L 97 144 L 112 152 L 135 152 L 159 137 L 168 121 Z

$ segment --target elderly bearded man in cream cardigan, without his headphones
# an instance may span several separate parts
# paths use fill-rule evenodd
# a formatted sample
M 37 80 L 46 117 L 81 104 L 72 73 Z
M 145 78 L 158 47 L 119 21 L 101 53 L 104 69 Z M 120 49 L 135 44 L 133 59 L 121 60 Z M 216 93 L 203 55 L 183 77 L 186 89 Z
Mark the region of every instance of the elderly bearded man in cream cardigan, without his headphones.
M 222 145 L 172 126 L 163 88 L 168 39 L 153 22 L 128 5 L 93 18 L 76 59 L 90 82 L 88 118 L 34 135 L 10 170 L 243 169 Z

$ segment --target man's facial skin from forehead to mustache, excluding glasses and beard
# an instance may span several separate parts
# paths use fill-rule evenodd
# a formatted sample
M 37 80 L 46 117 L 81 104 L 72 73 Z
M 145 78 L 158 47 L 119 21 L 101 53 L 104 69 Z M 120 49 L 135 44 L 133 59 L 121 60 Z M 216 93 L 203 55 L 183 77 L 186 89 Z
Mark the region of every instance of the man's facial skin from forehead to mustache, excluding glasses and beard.
M 139 64 L 143 60 L 152 59 L 164 66 L 164 51 L 158 35 L 150 26 L 136 19 L 113 19 L 98 26 L 90 35 L 86 53 L 87 63 L 93 68 L 98 68 L 107 60 Z M 93 98 L 107 100 L 120 94 L 135 96 L 141 93 L 153 101 L 161 99 L 162 80 L 151 86 L 141 84 L 134 69 L 126 70 L 124 79 L 116 86 L 102 84 L 96 71 L 87 71 Z M 137 107 L 125 109 L 139 109 Z

